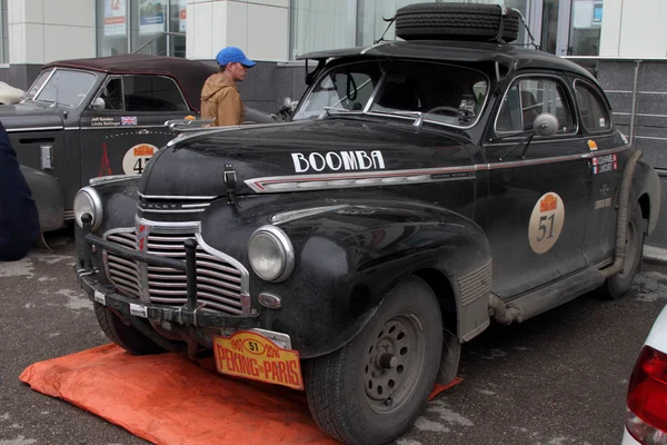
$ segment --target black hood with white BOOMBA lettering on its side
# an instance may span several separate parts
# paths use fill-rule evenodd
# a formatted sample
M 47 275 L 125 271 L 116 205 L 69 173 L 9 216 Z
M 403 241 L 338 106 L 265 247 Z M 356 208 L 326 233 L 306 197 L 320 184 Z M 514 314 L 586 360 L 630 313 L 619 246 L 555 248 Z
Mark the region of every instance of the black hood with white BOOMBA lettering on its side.
M 140 191 L 222 196 L 226 170 L 228 178 L 235 177 L 238 195 L 312 189 L 303 181 L 338 181 L 334 185 L 341 188 L 371 185 L 358 182 L 370 178 L 389 184 L 400 175 L 396 171 L 469 167 L 466 142 L 425 127 L 347 118 L 220 129 L 175 140 L 160 150 L 142 175 Z

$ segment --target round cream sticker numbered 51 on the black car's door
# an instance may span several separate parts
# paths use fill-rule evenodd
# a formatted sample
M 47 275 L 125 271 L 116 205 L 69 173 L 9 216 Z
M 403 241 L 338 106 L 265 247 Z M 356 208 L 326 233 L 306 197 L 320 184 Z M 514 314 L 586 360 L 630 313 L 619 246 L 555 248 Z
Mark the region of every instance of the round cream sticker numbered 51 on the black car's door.
M 554 191 L 542 195 L 532 208 L 528 226 L 528 240 L 532 251 L 536 254 L 549 251 L 560 236 L 564 221 L 563 199 Z

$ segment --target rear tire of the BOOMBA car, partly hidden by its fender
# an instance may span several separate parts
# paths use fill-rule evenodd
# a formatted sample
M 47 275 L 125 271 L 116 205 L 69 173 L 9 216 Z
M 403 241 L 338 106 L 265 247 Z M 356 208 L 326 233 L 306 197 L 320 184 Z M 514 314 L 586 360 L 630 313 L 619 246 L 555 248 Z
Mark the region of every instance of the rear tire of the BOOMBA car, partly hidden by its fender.
M 600 287 L 600 295 L 608 299 L 623 297 L 633 285 L 644 256 L 644 217 L 639 204 L 636 204 L 628 219 L 626 236 L 626 261 L 624 268 Z

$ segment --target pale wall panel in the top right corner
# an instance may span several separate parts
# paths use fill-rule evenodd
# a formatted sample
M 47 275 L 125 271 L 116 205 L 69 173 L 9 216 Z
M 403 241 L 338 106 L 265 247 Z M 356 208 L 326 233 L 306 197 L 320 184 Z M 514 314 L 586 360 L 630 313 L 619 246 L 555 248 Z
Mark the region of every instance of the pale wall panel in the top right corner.
M 667 56 L 667 1 L 605 0 L 604 4 L 600 56 Z

